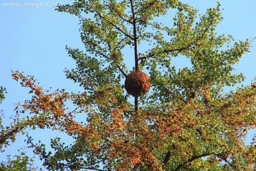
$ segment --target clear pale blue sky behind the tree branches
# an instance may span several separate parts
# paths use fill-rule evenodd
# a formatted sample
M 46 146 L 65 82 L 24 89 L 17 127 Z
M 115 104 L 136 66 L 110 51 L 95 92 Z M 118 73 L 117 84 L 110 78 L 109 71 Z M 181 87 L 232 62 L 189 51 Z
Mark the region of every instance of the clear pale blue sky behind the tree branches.
M 59 13 L 54 10 L 55 3 L 69 3 L 71 1 L 13 1 L 30 2 L 30 7 L 6 7 L 3 3 L 12 2 L 0 0 L 0 86 L 8 90 L 6 99 L 0 106 L 5 112 L 4 125 L 8 125 L 8 117 L 14 114 L 14 103 L 28 99 L 28 90 L 12 80 L 11 69 L 24 71 L 26 75 L 33 75 L 45 89 L 65 88 L 68 91 L 82 90 L 78 84 L 66 79 L 64 68 L 73 68 L 75 62 L 67 55 L 65 46 L 84 50 L 79 37 L 77 17 Z M 53 3 L 53 4 L 50 4 Z M 204 13 L 209 7 L 215 7 L 216 1 L 187 1 L 189 5 L 197 8 L 199 13 Z M 218 34 L 231 34 L 236 40 L 246 40 L 256 36 L 256 1 L 254 0 L 220 0 L 224 8 L 223 21 L 219 24 Z M 34 3 L 34 4 L 33 4 Z M 45 7 L 38 7 L 35 3 L 44 3 Z M 172 19 L 172 18 L 169 18 Z M 250 80 L 256 76 L 256 42 L 252 42 L 251 53 L 245 54 L 239 64 L 234 65 L 235 72 L 242 72 L 246 76 L 244 85 L 249 85 Z M 129 50 L 124 51 L 124 55 Z M 133 59 L 133 58 L 132 58 Z M 126 60 L 133 65 L 134 60 Z M 181 67 L 187 64 L 182 58 L 176 58 L 174 63 Z M 227 89 L 228 90 L 228 89 Z M 249 143 L 255 130 L 249 131 L 246 142 Z M 61 133 L 51 130 L 30 131 L 29 135 L 35 140 L 42 139 L 49 144 L 50 138 L 62 136 L 63 141 L 71 139 Z M 17 136 L 17 141 L 0 154 L 0 161 L 5 160 L 7 154 L 14 155 L 18 148 L 24 146 L 24 137 Z M 36 165 L 40 166 L 40 162 Z

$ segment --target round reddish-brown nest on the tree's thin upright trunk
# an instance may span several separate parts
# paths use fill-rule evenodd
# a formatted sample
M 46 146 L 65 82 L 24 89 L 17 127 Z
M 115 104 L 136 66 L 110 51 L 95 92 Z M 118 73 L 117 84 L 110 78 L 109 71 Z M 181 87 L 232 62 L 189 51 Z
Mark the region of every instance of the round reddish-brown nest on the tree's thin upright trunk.
M 150 90 L 149 80 L 150 78 L 144 72 L 134 71 L 126 77 L 124 86 L 129 94 L 138 97 Z

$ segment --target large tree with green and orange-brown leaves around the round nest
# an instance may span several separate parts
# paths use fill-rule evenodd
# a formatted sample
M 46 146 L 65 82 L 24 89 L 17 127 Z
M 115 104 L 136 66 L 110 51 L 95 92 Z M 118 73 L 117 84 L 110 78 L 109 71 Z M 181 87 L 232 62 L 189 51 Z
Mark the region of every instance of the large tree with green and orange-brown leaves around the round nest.
M 51 128 L 74 143 L 55 138 L 47 152 L 28 136 L 49 170 L 253 170 L 255 139 L 250 145 L 243 139 L 256 124 L 256 84 L 223 91 L 243 81 L 242 74 L 231 73 L 232 65 L 249 52 L 252 40 L 234 42 L 215 32 L 220 4 L 201 16 L 177 0 L 78 0 L 56 10 L 80 19 L 86 51 L 67 47 L 76 68 L 65 72 L 84 92 L 44 91 L 32 76 L 13 71 L 33 96 L 17 104 L 16 120 L 2 128 L 1 148 L 27 127 Z M 157 21 L 170 10 L 176 11 L 172 27 Z M 145 43 L 153 48 L 140 52 Z M 122 85 L 131 72 L 124 47 L 134 53 L 132 70 L 150 76 L 150 93 L 134 102 Z M 173 66 L 179 56 L 192 67 Z M 66 101 L 75 108 L 68 109 Z M 27 111 L 32 116 L 19 119 Z M 86 121 L 76 121 L 78 114 Z

